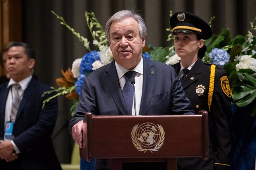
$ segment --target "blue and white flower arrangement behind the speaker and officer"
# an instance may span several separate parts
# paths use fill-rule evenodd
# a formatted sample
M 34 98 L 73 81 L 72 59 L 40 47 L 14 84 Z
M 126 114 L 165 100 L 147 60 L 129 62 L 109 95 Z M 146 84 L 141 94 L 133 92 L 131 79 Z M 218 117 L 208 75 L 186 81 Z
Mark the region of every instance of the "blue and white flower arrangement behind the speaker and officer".
M 66 95 L 66 98 L 73 99 L 74 103 L 70 111 L 74 115 L 75 106 L 78 104 L 79 95 L 81 95 L 83 79 L 93 70 L 111 62 L 113 56 L 108 46 L 104 29 L 93 12 L 89 13 L 86 11 L 85 18 L 93 37 L 93 44 L 98 47 L 96 51 L 90 50 L 88 39 L 76 33 L 65 22 L 63 17 L 60 17 L 54 11 L 51 12 L 61 20 L 60 24 L 66 26 L 78 37 L 78 40 L 89 51 L 82 58 L 75 59 L 72 69 L 68 68 L 66 72 L 62 70 L 64 78 L 56 79 L 59 86 L 58 89 L 52 87 L 51 91 L 43 94 L 57 92 L 56 95 L 46 99 L 44 104 L 59 95 Z M 172 16 L 172 11 L 170 11 L 170 16 Z M 211 21 L 214 18 L 214 16 L 211 18 L 209 25 L 211 25 Z M 256 36 L 251 32 L 253 30 L 256 31 L 256 27 L 253 26 L 255 20 L 256 17 L 250 23 L 250 30 L 246 36 L 237 35 L 232 39 L 229 29 L 223 28 L 219 35 L 213 34 L 211 38 L 205 41 L 207 52 L 203 61 L 208 64 L 219 65 L 226 70 L 233 93 L 233 101 L 239 107 L 248 105 L 256 98 L 256 52 L 254 50 Z M 171 31 L 171 29 L 167 28 L 167 31 Z M 173 35 L 169 34 L 167 41 L 171 40 L 173 40 Z M 143 48 L 143 54 L 146 58 L 165 62 L 168 65 L 173 65 L 180 61 L 180 57 L 175 54 L 173 44 L 168 47 L 154 47 L 150 45 Z M 252 116 L 256 116 L 256 103 L 253 107 Z

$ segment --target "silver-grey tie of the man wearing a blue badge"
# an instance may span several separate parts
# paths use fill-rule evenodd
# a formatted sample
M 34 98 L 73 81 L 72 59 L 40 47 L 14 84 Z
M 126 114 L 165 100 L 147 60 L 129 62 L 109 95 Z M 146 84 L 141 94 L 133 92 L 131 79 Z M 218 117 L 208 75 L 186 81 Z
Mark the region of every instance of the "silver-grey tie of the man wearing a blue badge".
M 20 85 L 19 84 L 13 84 L 12 85 L 12 96 L 13 96 L 13 102 L 12 102 L 12 112 L 11 112 L 11 122 L 15 121 L 19 105 L 20 105 L 20 95 L 19 95 L 19 89 Z

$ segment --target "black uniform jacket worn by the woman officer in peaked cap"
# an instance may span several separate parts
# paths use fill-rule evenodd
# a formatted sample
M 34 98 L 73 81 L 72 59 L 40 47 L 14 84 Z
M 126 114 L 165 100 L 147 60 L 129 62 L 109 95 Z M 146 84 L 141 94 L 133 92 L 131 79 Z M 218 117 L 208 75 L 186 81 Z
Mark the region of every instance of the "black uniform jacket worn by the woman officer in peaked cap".
M 180 62 L 173 65 L 176 72 L 180 71 Z M 178 159 L 179 170 L 211 170 L 229 169 L 229 156 L 231 152 L 230 142 L 230 119 L 231 119 L 231 97 L 228 97 L 221 88 L 220 78 L 226 73 L 216 66 L 214 91 L 211 110 L 208 109 L 208 92 L 210 81 L 210 65 L 204 64 L 198 59 L 188 72 L 182 86 L 188 99 L 190 99 L 195 112 L 206 110 L 209 113 L 209 159 Z M 198 85 L 205 86 L 203 95 L 196 95 Z M 214 163 L 217 163 L 214 165 Z M 220 163 L 220 164 L 218 164 Z

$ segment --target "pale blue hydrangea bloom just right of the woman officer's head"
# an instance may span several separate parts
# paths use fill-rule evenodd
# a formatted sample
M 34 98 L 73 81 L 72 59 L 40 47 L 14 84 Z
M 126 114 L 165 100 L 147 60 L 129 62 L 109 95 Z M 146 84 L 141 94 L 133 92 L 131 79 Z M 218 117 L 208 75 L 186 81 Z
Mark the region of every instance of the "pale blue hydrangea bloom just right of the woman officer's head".
M 213 50 L 211 50 L 209 53 L 209 56 L 211 57 L 211 62 L 213 64 L 219 65 L 221 67 L 227 64 L 230 58 L 229 53 L 227 53 L 226 50 L 220 48 L 213 48 Z

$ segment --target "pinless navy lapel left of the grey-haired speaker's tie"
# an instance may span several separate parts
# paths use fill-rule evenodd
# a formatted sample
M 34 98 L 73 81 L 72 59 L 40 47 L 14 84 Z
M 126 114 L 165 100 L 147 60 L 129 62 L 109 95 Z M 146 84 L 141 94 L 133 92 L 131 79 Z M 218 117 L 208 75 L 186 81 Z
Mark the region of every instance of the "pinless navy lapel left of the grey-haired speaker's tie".
M 124 98 L 122 95 L 122 90 L 119 84 L 116 68 L 115 68 L 115 61 L 113 60 L 109 67 L 105 69 L 106 76 L 105 76 L 105 82 L 108 86 L 108 89 L 116 103 L 116 106 L 121 111 L 123 115 L 129 115 L 128 109 L 125 105 Z M 118 88 L 116 88 L 118 87 Z

